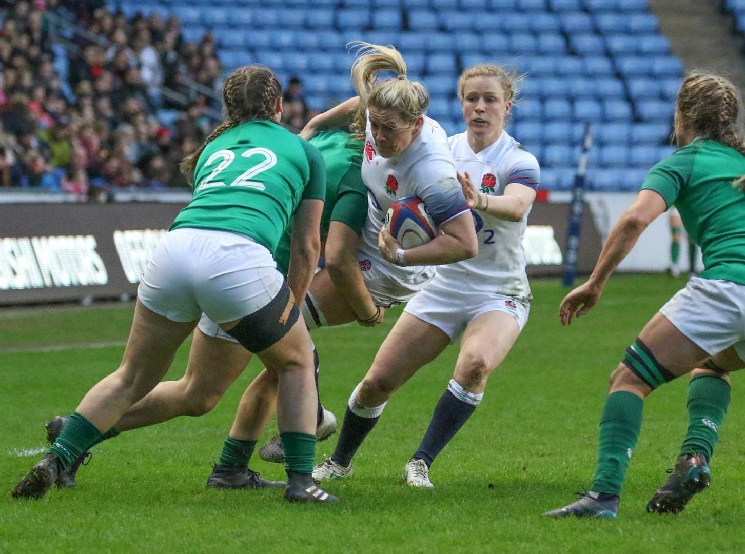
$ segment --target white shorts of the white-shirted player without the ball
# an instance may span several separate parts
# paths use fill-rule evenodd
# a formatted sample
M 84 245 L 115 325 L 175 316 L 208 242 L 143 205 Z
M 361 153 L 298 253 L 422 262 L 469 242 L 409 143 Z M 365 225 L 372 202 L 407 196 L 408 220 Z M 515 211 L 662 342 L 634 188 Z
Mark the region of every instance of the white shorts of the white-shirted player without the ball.
M 516 296 L 461 290 L 436 278 L 409 301 L 404 311 L 440 328 L 454 343 L 470 322 L 490 311 L 509 313 L 522 332 L 530 302 Z

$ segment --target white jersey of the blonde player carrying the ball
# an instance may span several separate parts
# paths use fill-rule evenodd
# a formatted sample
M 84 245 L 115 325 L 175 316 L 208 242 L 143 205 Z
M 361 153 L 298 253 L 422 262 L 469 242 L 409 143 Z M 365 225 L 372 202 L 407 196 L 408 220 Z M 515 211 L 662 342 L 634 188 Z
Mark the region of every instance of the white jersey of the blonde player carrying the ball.
M 434 119 L 425 116 L 422 130 L 410 146 L 393 158 L 378 155 L 370 119 L 362 156 L 362 180 L 367 186 L 367 223 L 358 249 L 380 258 L 378 234 L 385 224 L 390 205 L 405 197 L 419 197 L 427 206 L 435 225 L 440 226 L 468 210 L 468 203 L 457 182 L 448 137 Z M 431 267 L 398 267 L 391 272 L 402 279 Z M 396 270 L 393 270 L 393 267 Z

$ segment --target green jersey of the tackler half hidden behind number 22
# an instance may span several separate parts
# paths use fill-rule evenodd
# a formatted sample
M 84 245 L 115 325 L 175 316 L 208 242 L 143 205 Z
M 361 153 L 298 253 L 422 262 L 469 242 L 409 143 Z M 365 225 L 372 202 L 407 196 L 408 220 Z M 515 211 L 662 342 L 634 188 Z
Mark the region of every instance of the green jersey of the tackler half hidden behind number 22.
M 362 147 L 349 133 L 340 130 L 323 131 L 311 139 L 326 162 L 326 203 L 321 217 L 321 240 L 326 241 L 329 225 L 340 221 L 361 234 L 367 220 L 367 188 L 362 182 Z M 290 265 L 292 222 L 277 245 L 274 258 L 277 269 L 287 275 Z

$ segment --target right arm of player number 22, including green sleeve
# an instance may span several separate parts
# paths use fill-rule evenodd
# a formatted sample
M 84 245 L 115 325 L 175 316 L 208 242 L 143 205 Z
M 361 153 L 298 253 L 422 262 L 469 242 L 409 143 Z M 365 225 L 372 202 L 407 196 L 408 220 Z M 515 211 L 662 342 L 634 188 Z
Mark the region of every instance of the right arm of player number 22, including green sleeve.
M 290 241 L 290 267 L 287 281 L 297 302 L 305 299 L 318 265 L 321 251 L 321 214 L 326 198 L 326 163 L 316 147 L 299 139 L 308 156 L 310 174 L 295 211 Z

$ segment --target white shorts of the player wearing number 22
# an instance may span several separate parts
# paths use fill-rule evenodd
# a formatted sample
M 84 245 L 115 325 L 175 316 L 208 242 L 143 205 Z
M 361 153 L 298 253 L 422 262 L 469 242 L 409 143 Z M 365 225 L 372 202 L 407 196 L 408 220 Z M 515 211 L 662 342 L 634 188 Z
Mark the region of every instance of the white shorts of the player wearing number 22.
M 247 236 L 181 228 L 156 247 L 137 297 L 171 321 L 194 321 L 206 313 L 225 323 L 264 308 L 284 280 L 271 252 Z

